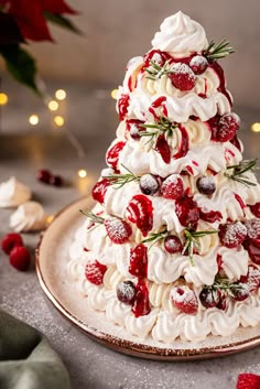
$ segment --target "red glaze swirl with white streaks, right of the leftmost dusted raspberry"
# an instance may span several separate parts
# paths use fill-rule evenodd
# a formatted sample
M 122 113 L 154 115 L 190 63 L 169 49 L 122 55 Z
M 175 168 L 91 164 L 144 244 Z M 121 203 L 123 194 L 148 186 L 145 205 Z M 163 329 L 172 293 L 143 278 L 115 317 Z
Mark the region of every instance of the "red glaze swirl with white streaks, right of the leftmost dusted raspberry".
M 140 194 L 132 197 L 127 210 L 129 220 L 137 224 L 137 227 L 145 237 L 153 225 L 153 206 L 150 198 Z

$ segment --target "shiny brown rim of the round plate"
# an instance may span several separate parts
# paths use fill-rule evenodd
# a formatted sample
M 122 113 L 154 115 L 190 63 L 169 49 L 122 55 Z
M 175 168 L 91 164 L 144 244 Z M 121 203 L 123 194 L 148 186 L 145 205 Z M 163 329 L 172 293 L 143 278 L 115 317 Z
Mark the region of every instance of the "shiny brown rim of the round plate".
M 131 355 L 144 359 L 164 360 L 164 361 L 177 361 L 177 360 L 196 360 L 206 358 L 217 358 L 224 357 L 241 352 L 249 350 L 260 345 L 260 335 L 253 336 L 247 341 L 238 341 L 226 345 L 213 346 L 213 347 L 202 347 L 202 348 L 159 348 L 156 346 L 149 346 L 141 343 L 136 343 L 132 341 L 122 339 L 118 336 L 106 334 L 102 331 L 87 325 L 80 318 L 76 317 L 69 310 L 64 306 L 64 304 L 58 301 L 58 299 L 52 293 L 51 288 L 47 285 L 47 281 L 44 278 L 41 268 L 41 248 L 46 236 L 46 231 L 53 228 L 56 220 L 63 216 L 69 208 L 74 207 L 84 201 L 91 199 L 90 194 L 79 197 L 78 199 L 69 203 L 63 207 L 53 218 L 52 223 L 47 228 L 41 233 L 37 246 L 35 248 L 35 270 L 39 279 L 40 287 L 43 292 L 55 306 L 55 309 L 66 318 L 68 322 L 73 323 L 77 328 L 84 332 L 91 339 L 107 346 L 116 352 Z M 93 202 L 94 203 L 94 202 Z

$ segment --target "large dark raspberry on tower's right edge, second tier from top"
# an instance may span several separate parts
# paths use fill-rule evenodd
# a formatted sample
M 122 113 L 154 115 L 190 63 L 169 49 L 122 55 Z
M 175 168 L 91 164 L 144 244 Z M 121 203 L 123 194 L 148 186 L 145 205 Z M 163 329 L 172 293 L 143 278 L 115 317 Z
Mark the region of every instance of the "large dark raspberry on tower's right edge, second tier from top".
M 237 133 L 239 128 L 239 118 L 236 114 L 226 114 L 218 121 L 216 140 L 218 142 L 228 142 Z

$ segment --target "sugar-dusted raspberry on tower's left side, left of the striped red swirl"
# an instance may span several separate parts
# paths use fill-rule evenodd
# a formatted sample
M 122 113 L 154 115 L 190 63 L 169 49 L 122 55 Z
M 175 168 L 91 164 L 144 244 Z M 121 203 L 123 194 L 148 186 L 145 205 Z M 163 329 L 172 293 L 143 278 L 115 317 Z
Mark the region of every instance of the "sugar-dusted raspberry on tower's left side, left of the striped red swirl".
M 128 241 L 132 234 L 131 226 L 118 217 L 111 217 L 105 220 L 105 228 L 109 238 L 116 245 L 122 245 Z

